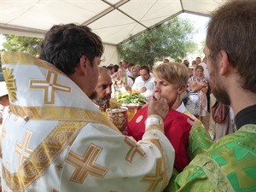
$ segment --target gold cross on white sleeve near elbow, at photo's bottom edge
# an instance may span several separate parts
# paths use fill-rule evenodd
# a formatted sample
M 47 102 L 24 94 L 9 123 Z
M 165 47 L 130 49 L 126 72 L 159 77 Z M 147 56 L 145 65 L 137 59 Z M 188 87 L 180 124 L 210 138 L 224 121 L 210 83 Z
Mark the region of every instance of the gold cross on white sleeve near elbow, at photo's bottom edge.
M 150 183 L 147 189 L 147 191 L 150 192 L 156 189 L 158 183 L 163 180 L 163 177 L 164 174 L 162 172 L 162 160 L 158 159 L 156 162 L 155 173 L 146 175 L 141 181 Z

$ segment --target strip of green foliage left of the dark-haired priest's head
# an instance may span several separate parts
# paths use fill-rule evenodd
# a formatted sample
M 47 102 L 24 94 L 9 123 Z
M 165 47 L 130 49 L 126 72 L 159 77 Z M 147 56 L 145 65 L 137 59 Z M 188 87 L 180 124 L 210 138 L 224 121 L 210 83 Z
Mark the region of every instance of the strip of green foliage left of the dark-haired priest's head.
M 39 55 L 40 44 L 42 38 L 29 38 L 15 35 L 4 35 L 5 43 L 3 43 L 3 49 L 5 51 L 21 51 L 34 56 Z

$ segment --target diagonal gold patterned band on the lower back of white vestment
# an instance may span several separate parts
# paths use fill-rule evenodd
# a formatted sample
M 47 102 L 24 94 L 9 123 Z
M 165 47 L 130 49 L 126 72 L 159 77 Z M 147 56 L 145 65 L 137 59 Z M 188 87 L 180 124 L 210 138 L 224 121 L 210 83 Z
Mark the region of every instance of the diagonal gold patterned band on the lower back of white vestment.
M 3 177 L 9 189 L 24 191 L 35 182 L 87 122 L 61 122 L 36 148 L 16 173 L 2 164 Z

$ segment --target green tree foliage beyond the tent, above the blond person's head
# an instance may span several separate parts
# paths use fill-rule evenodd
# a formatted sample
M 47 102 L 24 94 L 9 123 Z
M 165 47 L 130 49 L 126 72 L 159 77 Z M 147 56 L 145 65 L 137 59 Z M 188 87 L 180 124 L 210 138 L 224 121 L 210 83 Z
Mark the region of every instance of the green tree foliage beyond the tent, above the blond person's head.
M 193 42 L 194 26 L 178 17 L 155 26 L 118 45 L 120 58 L 140 65 L 154 65 L 166 57 L 184 58 L 197 48 Z

